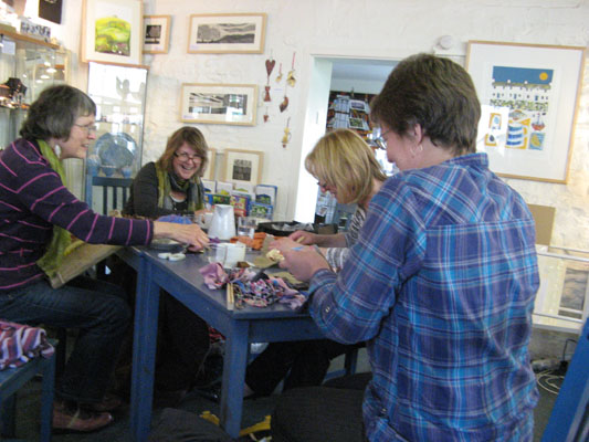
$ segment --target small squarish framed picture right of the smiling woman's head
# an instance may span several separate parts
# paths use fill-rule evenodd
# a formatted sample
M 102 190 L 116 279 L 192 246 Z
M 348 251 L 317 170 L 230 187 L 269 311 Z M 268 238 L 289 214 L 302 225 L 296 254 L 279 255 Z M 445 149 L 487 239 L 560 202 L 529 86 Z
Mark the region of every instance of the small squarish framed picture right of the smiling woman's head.
M 259 150 L 225 149 L 223 178 L 225 182 L 257 185 L 262 178 L 264 152 Z

